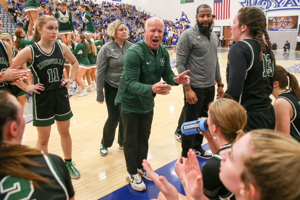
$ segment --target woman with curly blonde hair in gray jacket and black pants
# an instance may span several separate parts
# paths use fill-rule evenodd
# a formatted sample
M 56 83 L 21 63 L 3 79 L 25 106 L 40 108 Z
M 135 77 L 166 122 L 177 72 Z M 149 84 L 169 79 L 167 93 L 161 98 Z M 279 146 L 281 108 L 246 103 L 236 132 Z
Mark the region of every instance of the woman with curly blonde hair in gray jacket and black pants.
M 108 118 L 103 128 L 100 154 L 106 156 L 107 148 L 113 145 L 116 128 L 119 123 L 118 144 L 123 150 L 123 124 L 115 98 L 118 93 L 119 81 L 123 72 L 123 59 L 128 48 L 133 43 L 126 41 L 129 30 L 124 22 L 119 20 L 109 24 L 108 36 L 112 38 L 100 48 L 97 57 L 97 101 L 102 104 L 106 101 Z M 104 88 L 104 94 L 103 94 Z

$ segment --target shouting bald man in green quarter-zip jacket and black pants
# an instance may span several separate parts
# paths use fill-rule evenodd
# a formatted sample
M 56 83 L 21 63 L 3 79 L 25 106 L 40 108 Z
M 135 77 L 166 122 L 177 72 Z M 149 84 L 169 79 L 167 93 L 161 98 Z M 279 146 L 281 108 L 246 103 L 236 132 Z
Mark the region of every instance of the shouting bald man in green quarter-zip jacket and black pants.
M 168 94 L 171 85 L 190 82 L 186 75 L 189 70 L 178 76 L 173 73 L 168 51 L 159 45 L 163 29 L 163 21 L 158 17 L 146 21 L 144 40 L 132 45 L 125 54 L 124 71 L 115 99 L 120 107 L 124 129 L 126 180 L 138 191 L 146 189 L 141 176 L 152 181 L 142 163 L 148 154 L 154 97 L 156 94 Z M 161 78 L 164 82 L 160 82 Z

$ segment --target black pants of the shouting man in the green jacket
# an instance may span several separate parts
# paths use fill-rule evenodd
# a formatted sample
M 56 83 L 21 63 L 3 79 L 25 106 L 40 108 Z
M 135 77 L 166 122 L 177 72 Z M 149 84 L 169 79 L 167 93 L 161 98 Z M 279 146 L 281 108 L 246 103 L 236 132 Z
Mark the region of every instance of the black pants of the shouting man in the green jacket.
M 123 146 L 127 172 L 137 174 L 138 168 L 142 168 L 143 159 L 147 159 L 153 110 L 144 115 L 124 114 L 121 111 L 121 106 L 119 108 L 124 128 Z

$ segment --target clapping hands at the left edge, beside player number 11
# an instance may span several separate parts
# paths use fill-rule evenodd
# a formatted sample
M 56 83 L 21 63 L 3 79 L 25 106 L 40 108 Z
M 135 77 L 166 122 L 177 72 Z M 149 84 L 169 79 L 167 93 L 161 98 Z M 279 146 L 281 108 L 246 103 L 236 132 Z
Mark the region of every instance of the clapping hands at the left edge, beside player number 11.
M 29 75 L 26 70 L 20 69 L 20 66 L 14 68 L 14 64 L 2 73 L 2 79 L 4 81 L 12 81 L 16 83 L 27 79 L 28 76 Z

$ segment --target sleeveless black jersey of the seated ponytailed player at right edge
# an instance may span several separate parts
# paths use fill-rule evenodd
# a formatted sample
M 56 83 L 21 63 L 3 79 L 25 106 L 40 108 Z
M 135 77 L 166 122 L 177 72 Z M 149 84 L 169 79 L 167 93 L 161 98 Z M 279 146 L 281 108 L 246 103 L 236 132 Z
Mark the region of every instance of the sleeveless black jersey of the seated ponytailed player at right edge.
M 284 98 L 292 105 L 294 115 L 291 118 L 290 134 L 300 142 L 300 100 L 290 90 L 280 93 L 278 98 Z

